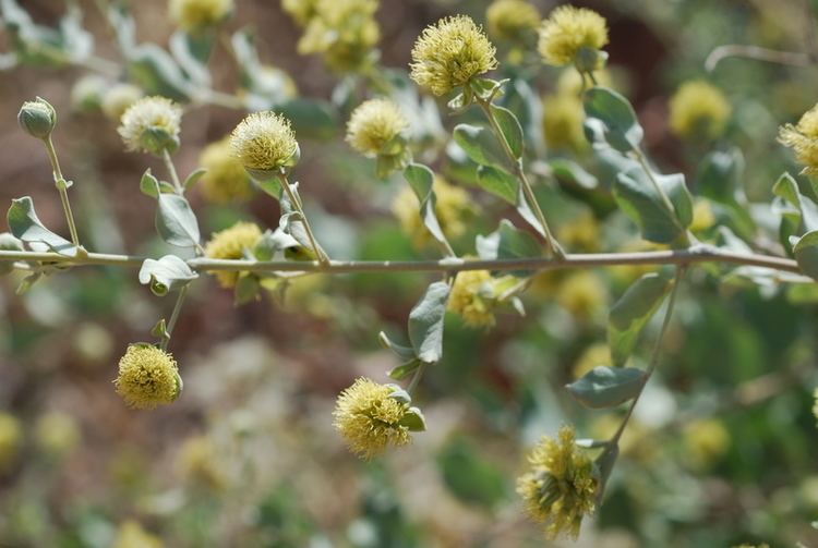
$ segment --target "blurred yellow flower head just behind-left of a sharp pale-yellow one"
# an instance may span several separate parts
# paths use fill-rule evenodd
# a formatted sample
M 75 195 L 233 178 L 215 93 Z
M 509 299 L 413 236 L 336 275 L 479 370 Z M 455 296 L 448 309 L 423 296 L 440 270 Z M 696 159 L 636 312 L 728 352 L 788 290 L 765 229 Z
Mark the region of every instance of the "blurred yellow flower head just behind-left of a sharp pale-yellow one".
M 252 196 L 250 178 L 232 155 L 229 138 L 207 145 L 199 157 L 199 163 L 207 170 L 199 184 L 209 202 L 225 204 Z

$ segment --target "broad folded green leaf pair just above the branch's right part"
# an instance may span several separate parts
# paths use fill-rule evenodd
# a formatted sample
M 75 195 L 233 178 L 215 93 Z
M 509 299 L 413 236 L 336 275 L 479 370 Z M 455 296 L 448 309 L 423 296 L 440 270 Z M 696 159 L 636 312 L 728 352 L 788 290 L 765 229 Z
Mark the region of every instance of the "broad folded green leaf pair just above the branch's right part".
M 614 198 L 639 227 L 645 240 L 670 244 L 684 236 L 693 221 L 693 197 L 683 174 L 653 176 L 671 200 L 673 210 L 667 208 L 645 170 L 637 166 L 616 176 Z

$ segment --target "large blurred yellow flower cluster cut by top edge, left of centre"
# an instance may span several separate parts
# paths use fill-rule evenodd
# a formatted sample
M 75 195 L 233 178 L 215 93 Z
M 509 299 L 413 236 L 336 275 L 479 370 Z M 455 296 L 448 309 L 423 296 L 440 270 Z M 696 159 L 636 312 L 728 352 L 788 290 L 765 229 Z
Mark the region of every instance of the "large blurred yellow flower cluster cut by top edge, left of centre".
M 321 53 L 338 72 L 359 69 L 381 38 L 375 11 L 377 0 L 317 0 L 299 53 Z

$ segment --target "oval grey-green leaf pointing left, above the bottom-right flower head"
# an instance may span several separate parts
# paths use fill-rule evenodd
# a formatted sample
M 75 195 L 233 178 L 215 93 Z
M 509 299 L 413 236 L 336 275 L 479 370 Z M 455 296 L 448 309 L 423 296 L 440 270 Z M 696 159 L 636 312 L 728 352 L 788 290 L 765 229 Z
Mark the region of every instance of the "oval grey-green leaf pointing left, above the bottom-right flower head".
M 636 398 L 643 382 L 641 369 L 600 365 L 566 388 L 586 407 L 605 409 Z

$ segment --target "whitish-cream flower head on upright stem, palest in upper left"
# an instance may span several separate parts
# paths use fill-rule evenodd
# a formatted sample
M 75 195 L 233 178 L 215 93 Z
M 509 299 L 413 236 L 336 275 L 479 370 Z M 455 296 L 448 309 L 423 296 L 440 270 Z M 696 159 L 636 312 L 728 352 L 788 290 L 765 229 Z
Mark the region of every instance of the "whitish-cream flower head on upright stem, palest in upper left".
M 179 147 L 182 109 L 165 97 L 143 97 L 122 113 L 119 135 L 129 150 L 161 156 Z

